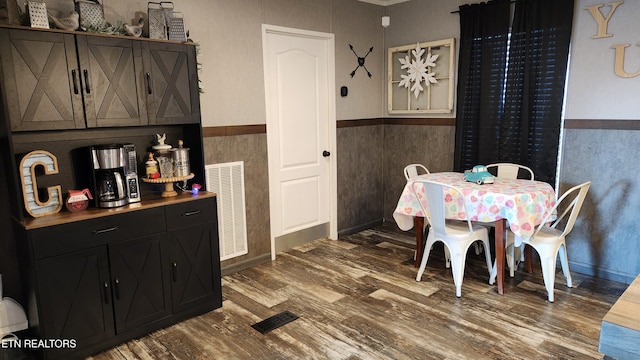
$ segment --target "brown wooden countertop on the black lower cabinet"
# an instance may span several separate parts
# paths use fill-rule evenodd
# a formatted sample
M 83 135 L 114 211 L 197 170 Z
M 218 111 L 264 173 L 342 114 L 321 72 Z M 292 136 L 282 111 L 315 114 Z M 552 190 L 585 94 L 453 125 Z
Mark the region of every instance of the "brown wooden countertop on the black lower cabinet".
M 39 218 L 27 218 L 23 221 L 18 222 L 25 228 L 25 230 L 33 230 L 47 226 L 55 226 L 71 223 L 74 221 L 95 219 L 103 216 L 123 214 L 131 211 L 150 209 L 154 207 L 178 204 L 194 199 L 206 199 L 215 196 L 216 193 L 208 191 L 201 191 L 200 193 L 198 193 L 198 195 L 192 195 L 191 193 L 179 193 L 178 196 L 173 197 L 161 197 L 159 194 L 147 195 L 144 196 L 143 200 L 140 202 L 120 206 L 117 208 L 102 209 L 90 207 L 87 210 L 77 213 L 72 213 L 70 211 L 67 211 L 66 209 L 63 209 L 57 214 L 42 216 Z

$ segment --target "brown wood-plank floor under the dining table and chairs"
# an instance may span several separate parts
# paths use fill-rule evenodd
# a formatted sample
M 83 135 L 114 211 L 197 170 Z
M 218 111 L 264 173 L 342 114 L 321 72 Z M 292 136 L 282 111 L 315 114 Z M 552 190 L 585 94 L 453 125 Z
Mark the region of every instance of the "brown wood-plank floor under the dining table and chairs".
M 539 265 L 505 295 L 470 251 L 456 298 L 442 246 L 415 281 L 411 232 L 395 227 L 318 240 L 223 278 L 221 309 L 92 359 L 601 359 L 601 319 L 626 285 L 573 273 L 546 301 Z M 570 245 L 569 245 L 570 246 Z M 534 262 L 535 264 L 535 262 Z M 299 316 L 261 334 L 251 325 Z

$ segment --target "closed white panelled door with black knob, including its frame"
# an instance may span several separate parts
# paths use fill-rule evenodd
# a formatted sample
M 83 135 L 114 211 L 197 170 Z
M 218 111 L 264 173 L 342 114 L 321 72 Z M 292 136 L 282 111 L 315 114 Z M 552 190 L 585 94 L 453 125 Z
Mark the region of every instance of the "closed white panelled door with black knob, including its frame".
M 271 25 L 262 31 L 275 258 L 283 235 L 328 224 L 322 236 L 337 238 L 334 39 Z

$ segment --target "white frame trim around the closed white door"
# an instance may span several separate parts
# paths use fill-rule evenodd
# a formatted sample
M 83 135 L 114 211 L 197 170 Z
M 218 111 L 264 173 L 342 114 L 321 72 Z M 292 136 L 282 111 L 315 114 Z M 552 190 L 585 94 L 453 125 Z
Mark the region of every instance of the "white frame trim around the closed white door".
M 268 89 L 270 88 L 268 77 L 266 76 L 267 71 L 267 57 L 269 53 L 269 49 L 267 48 L 267 35 L 268 34 L 276 34 L 283 36 L 291 36 L 296 38 L 310 38 L 315 40 L 323 40 L 327 45 L 327 90 L 329 94 L 327 94 L 328 98 L 328 140 L 329 140 L 329 151 L 331 152 L 331 156 L 329 157 L 329 174 L 328 174 L 328 185 L 329 185 L 329 239 L 337 240 L 338 239 L 338 174 L 337 174 L 337 145 L 336 145 L 336 89 L 335 89 L 335 39 L 334 34 L 331 33 L 323 33 L 317 31 L 310 30 L 302 30 L 295 28 L 288 28 L 283 26 L 262 24 L 262 51 L 263 58 L 262 64 L 264 68 L 265 74 L 265 110 L 266 110 L 266 125 L 267 125 L 267 148 L 271 148 L 269 143 L 273 144 L 274 139 L 273 135 L 270 135 L 269 128 L 274 127 L 274 122 L 277 119 L 273 119 L 273 116 L 270 115 L 270 111 L 268 111 L 271 100 L 268 97 Z M 270 124 L 272 124 L 270 126 Z M 272 174 L 274 170 L 272 170 L 272 154 L 267 151 L 268 162 L 269 162 L 269 174 Z M 274 176 L 269 176 L 269 211 L 270 214 L 274 214 L 277 209 L 275 207 L 275 201 L 273 201 L 272 196 L 275 193 L 274 188 L 276 186 L 280 186 L 274 179 Z M 276 258 L 276 238 L 281 236 L 282 234 L 274 234 L 273 229 L 275 228 L 273 222 L 273 216 L 269 216 L 270 218 L 270 237 L 271 237 L 271 259 L 275 260 Z

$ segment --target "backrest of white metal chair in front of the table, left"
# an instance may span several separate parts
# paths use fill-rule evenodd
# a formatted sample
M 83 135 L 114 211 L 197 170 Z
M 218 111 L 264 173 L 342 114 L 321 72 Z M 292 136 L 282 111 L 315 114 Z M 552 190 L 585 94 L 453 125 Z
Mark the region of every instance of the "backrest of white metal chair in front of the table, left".
M 465 215 L 469 214 L 462 192 L 458 188 L 428 180 L 416 180 L 411 184 L 413 195 L 418 200 L 422 213 L 425 215 L 427 221 L 429 221 L 429 225 L 431 225 L 431 230 L 429 231 L 434 231 L 436 236 L 446 236 L 447 234 L 445 226 L 447 207 L 445 192 L 449 188 L 454 193 L 457 193 L 457 196 L 454 196 L 453 198 L 459 199 L 462 202 L 462 204 L 458 204 L 458 207 L 464 208 Z M 422 189 L 424 189 L 424 196 L 421 196 L 423 194 Z M 424 200 L 426 200 L 426 206 Z M 469 232 L 471 233 L 473 231 L 473 225 L 468 218 L 465 220 L 467 221 Z

